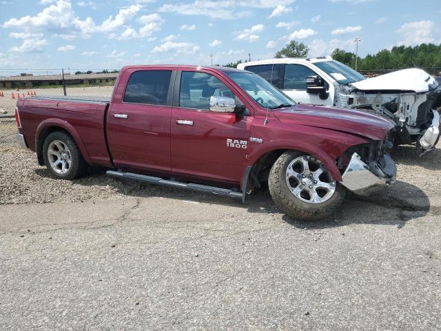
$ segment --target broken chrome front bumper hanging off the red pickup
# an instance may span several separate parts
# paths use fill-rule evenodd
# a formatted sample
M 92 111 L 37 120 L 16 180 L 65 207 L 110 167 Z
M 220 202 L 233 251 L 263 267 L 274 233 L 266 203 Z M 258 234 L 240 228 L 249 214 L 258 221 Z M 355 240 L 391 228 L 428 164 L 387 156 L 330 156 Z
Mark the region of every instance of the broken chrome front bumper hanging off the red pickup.
M 353 153 L 340 183 L 355 194 L 367 196 L 384 190 L 395 180 L 396 165 L 389 154 L 384 154 L 380 163 L 367 165 Z

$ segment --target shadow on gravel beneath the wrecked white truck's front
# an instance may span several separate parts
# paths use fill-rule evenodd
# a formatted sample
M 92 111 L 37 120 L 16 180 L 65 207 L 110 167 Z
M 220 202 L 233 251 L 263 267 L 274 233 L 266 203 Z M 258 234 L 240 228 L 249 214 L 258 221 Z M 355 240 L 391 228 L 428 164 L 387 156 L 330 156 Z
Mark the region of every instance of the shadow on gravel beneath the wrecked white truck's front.
M 421 150 L 415 146 L 397 146 L 391 152 L 393 161 L 404 165 L 419 165 L 429 170 L 441 170 L 441 148 L 422 155 Z

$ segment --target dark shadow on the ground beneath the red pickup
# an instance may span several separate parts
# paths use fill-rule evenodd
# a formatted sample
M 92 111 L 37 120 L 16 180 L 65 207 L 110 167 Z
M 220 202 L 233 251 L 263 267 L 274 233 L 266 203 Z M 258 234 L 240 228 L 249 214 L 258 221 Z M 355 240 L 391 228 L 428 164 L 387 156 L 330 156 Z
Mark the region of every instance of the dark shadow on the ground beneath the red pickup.
M 41 177 L 48 177 L 47 170 L 35 170 Z M 147 198 L 162 197 L 167 199 L 187 200 L 211 205 L 234 206 L 245 208 L 250 213 L 280 214 L 283 221 L 294 228 L 325 229 L 336 228 L 350 224 L 396 225 L 402 228 L 404 224 L 429 212 L 430 202 L 427 195 L 415 185 L 397 181 L 389 190 L 374 197 L 357 197 L 348 194 L 341 208 L 320 221 L 300 221 L 283 215 L 271 199 L 267 188 L 253 192 L 243 204 L 237 199 L 220 197 L 212 194 L 191 192 L 176 188 L 148 185 L 134 181 L 120 181 L 105 176 L 105 170 L 92 168 L 87 177 L 75 179 L 76 185 L 99 185 L 110 187 L 119 194 L 127 197 Z

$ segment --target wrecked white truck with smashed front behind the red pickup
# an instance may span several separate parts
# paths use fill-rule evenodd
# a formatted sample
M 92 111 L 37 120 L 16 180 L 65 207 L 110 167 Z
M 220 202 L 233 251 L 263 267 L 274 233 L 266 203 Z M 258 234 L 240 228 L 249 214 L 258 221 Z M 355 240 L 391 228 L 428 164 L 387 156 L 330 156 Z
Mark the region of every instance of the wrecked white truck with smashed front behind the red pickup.
M 291 99 L 375 111 L 396 123 L 395 143 L 431 150 L 440 137 L 441 86 L 427 72 L 404 69 L 366 79 L 330 57 L 240 63 Z

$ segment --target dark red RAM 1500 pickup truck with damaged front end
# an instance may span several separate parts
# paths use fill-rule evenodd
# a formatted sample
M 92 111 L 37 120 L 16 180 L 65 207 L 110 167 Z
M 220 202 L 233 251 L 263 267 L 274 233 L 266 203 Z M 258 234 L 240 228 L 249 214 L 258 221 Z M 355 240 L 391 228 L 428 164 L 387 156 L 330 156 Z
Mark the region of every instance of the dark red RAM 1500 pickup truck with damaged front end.
M 368 195 L 396 177 L 389 121 L 296 104 L 233 68 L 127 66 L 110 100 L 19 99 L 16 119 L 19 141 L 54 178 L 99 165 L 112 177 L 244 202 L 267 182 L 296 219 L 327 217 L 347 190 Z

